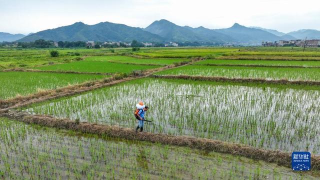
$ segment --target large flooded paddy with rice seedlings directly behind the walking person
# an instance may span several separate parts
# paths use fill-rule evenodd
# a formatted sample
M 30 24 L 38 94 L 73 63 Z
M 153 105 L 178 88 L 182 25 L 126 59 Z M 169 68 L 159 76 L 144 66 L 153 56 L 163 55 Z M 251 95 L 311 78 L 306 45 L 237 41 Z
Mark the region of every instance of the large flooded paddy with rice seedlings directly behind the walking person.
M 141 99 L 149 132 L 319 154 L 320 90 L 291 87 L 146 78 L 25 110 L 134 128 Z

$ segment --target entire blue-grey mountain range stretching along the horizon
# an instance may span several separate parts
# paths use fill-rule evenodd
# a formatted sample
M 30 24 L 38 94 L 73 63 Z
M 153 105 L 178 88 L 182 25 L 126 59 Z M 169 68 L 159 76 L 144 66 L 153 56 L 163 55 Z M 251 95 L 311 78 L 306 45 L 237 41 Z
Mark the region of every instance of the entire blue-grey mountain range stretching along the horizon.
M 1 33 L 0 33 L 1 34 Z M 12 35 L 12 34 L 11 34 Z M 15 34 L 18 35 L 18 34 Z M 20 34 L 23 35 L 23 34 Z M 125 24 L 100 22 L 87 25 L 76 22 L 71 25 L 30 33 L 27 36 L 6 41 L 34 41 L 37 39 L 53 41 L 123 41 L 133 39 L 144 42 L 209 42 L 213 44 L 259 44 L 264 41 L 320 38 L 320 31 L 301 29 L 289 33 L 261 27 L 246 27 L 234 23 L 229 28 L 209 29 L 203 26 L 190 27 L 176 25 L 168 20 L 161 19 L 152 22 L 145 28 L 131 27 Z M 0 36 L 0 41 L 3 41 Z

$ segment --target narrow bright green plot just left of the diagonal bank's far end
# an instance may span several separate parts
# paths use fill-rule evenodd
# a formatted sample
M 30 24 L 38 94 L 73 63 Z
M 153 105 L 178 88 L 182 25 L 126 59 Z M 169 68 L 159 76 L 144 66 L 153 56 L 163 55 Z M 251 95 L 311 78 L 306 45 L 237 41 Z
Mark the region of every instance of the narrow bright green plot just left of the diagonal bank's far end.
M 167 58 L 135 58 L 130 56 L 89 56 L 85 60 L 90 61 L 110 61 L 118 63 L 136 63 L 136 64 L 155 64 L 155 65 L 167 65 L 175 62 L 190 61 L 189 59 L 167 59 Z

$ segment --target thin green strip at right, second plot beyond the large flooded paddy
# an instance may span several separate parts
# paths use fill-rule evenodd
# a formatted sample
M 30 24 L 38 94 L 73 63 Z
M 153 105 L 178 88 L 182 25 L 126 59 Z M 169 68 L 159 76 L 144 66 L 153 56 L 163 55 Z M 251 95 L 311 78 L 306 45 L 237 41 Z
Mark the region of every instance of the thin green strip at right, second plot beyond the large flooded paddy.
M 232 59 L 206 59 L 194 64 L 240 64 L 240 65 L 270 65 L 270 66 L 320 66 L 320 61 L 306 60 L 232 60 Z

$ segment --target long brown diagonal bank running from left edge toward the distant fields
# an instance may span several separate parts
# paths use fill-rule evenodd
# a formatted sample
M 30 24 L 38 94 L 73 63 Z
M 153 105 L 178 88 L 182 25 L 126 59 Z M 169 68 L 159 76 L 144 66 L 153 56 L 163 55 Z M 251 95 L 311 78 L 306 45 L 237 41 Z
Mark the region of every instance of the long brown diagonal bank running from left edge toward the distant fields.
M 87 82 L 83 82 L 80 84 L 69 85 L 69 86 L 58 88 L 58 89 L 41 90 L 41 91 L 26 95 L 26 96 L 17 96 L 17 97 L 13 97 L 11 99 L 0 100 L 0 112 L 3 110 L 22 107 L 22 106 L 26 106 L 26 105 L 29 105 L 32 103 L 42 102 L 45 100 L 75 95 L 75 94 L 90 91 L 93 89 L 115 85 L 117 83 L 128 81 L 128 80 L 148 77 L 152 73 L 159 72 L 161 70 L 166 70 L 166 69 L 171 69 L 171 68 L 176 68 L 176 67 L 188 65 L 189 63 L 191 63 L 193 61 L 197 61 L 197 60 L 201 60 L 201 58 L 192 59 L 190 62 L 188 62 L 186 64 L 184 64 L 184 63 L 178 64 L 178 65 L 171 64 L 171 65 L 166 65 L 166 66 L 162 66 L 159 68 L 147 69 L 147 70 L 142 71 L 143 74 L 141 76 L 128 76 L 128 77 L 112 76 L 109 78 L 99 79 L 96 81 L 87 81 Z

